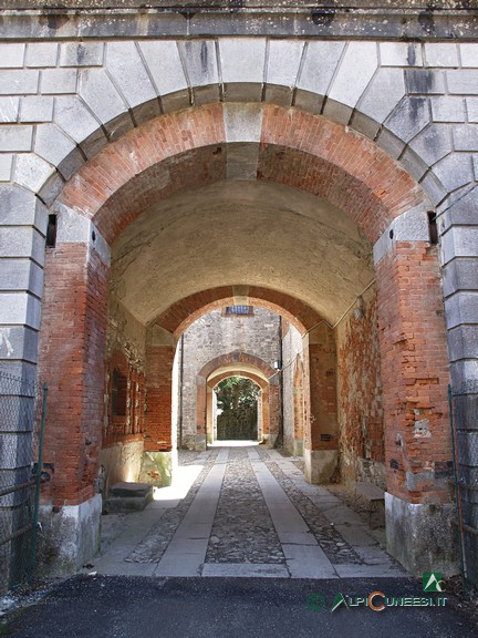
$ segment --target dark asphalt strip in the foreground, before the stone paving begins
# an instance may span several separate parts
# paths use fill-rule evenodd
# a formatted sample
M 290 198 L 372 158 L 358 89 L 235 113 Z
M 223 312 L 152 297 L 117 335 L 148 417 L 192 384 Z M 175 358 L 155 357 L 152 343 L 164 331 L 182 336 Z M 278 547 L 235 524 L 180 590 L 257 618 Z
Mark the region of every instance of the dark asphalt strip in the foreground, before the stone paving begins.
M 381 591 L 391 597 L 433 597 L 412 578 L 276 579 L 144 578 L 80 575 L 53 586 L 30 606 L 7 616 L 0 636 L 22 638 L 447 638 L 478 637 L 470 617 L 454 608 L 392 607 L 382 611 L 341 604 Z

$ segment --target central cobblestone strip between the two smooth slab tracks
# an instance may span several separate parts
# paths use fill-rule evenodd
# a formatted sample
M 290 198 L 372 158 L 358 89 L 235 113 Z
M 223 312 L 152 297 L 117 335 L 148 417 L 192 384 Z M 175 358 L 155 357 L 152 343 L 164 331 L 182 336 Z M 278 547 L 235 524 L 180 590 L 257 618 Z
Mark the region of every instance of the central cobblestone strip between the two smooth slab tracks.
M 247 450 L 229 453 L 206 563 L 285 564 Z

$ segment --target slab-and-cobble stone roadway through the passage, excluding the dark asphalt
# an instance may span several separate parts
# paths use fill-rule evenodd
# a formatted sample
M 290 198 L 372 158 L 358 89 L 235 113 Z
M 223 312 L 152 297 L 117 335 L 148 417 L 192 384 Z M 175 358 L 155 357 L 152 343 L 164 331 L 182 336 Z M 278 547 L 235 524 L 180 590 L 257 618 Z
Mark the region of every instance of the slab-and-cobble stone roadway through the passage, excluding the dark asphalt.
M 298 460 L 261 446 L 219 447 L 184 460 L 180 498 L 159 490 L 139 514 L 105 516 L 102 575 L 343 578 L 405 576 L 383 528 L 323 486 Z M 179 475 L 181 475 L 179 472 Z

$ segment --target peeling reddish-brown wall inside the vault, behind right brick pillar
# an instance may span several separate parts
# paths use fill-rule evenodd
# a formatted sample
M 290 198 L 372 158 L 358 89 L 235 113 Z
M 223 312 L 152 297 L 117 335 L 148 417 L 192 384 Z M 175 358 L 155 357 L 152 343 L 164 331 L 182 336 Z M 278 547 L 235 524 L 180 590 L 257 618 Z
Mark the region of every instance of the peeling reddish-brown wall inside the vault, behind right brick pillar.
M 342 480 L 385 487 L 385 450 L 375 287 L 336 328 Z

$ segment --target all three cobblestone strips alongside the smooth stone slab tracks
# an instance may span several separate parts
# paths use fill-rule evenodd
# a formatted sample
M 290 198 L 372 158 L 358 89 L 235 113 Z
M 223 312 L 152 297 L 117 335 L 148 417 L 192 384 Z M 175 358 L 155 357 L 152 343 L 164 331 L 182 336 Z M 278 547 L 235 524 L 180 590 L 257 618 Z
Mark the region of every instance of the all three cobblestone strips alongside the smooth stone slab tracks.
M 366 559 L 342 537 L 320 506 L 288 477 L 267 450 L 260 446 L 256 450 L 260 461 L 269 469 L 304 518 L 329 560 L 334 565 L 366 565 Z M 150 564 L 160 560 L 218 454 L 219 451 L 216 449 L 200 455 L 199 462 L 204 467 L 187 496 L 176 507 L 158 512 L 159 518 L 148 532 L 145 529 L 145 533 L 147 532 L 145 538 L 124 558 L 125 562 Z M 198 462 L 198 452 L 181 451 L 179 464 L 195 464 Z M 298 462 L 301 463 L 302 460 Z M 229 450 L 205 563 L 287 564 L 247 449 Z

